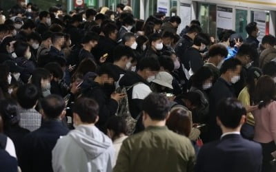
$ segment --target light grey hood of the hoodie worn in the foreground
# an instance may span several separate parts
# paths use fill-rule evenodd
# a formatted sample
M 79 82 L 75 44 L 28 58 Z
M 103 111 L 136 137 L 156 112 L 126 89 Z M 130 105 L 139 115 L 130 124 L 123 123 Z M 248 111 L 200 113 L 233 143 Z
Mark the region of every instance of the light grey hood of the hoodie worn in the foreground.
M 112 147 L 110 138 L 95 126 L 79 125 L 75 130 L 70 131 L 68 136 L 77 142 L 90 160 L 94 160 Z

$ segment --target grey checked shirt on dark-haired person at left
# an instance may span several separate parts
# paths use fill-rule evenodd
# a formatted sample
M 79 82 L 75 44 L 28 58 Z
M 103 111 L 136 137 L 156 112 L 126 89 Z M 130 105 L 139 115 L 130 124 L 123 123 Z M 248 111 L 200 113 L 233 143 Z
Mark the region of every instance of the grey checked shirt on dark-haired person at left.
M 23 109 L 19 110 L 20 122 L 19 125 L 24 129 L 34 131 L 41 126 L 41 114 L 35 109 Z

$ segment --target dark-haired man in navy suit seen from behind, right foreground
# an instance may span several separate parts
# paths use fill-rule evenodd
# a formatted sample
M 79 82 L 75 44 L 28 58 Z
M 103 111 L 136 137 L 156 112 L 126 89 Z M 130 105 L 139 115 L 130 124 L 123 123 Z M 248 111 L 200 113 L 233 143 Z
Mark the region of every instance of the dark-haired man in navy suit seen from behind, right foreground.
M 262 169 L 262 147 L 242 138 L 240 130 L 246 119 L 246 109 L 235 98 L 219 103 L 217 125 L 221 138 L 204 144 L 197 155 L 195 172 L 257 172 Z

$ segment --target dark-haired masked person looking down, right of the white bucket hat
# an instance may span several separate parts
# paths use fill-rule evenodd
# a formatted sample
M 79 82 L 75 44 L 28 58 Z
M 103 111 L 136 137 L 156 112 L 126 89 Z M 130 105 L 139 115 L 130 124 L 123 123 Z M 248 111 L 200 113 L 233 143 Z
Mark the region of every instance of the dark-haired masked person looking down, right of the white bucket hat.
M 212 88 L 213 72 L 208 67 L 201 67 L 191 78 L 190 92 L 197 92 L 200 95 L 200 105 L 193 110 L 195 123 L 206 123 L 209 113 L 208 90 Z

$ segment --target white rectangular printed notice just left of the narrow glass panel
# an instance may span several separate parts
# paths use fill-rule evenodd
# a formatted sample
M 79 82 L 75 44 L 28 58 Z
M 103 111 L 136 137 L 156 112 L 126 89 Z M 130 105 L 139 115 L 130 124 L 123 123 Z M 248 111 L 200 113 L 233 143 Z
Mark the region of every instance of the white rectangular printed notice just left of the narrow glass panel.
M 233 29 L 233 9 L 217 7 L 217 28 Z

